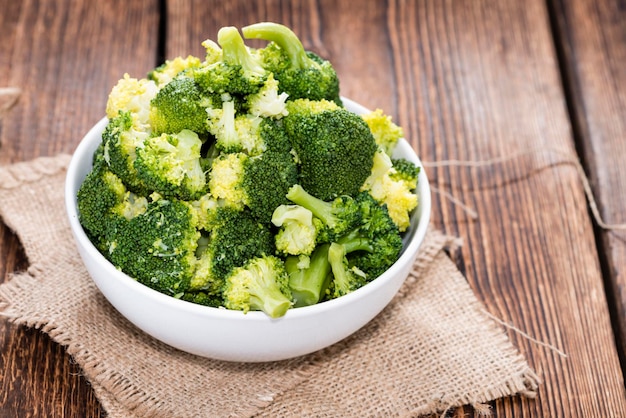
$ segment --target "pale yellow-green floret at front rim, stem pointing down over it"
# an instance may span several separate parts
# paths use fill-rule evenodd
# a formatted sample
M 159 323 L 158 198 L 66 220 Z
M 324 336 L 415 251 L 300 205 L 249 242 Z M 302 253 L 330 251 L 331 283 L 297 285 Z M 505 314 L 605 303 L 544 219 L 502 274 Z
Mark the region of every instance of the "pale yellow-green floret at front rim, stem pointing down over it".
M 289 276 L 283 261 L 262 256 L 238 267 L 226 279 L 224 306 L 228 309 L 263 311 L 278 318 L 291 307 Z

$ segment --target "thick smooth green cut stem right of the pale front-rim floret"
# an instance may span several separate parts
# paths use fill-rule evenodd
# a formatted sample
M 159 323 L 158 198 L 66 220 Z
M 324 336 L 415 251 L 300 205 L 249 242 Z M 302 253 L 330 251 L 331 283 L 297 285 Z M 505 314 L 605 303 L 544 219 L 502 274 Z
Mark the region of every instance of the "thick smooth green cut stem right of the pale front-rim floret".
M 285 259 L 295 307 L 314 305 L 325 297 L 332 280 L 329 247 L 330 244 L 321 244 L 310 257 L 288 256 Z

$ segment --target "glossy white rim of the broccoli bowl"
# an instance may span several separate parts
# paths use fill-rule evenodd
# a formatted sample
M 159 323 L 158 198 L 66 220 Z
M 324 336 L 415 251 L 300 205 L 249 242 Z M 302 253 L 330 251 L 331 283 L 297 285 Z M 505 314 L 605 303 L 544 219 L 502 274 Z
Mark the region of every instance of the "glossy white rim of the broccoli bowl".
M 360 105 L 357 102 L 354 102 L 350 99 L 342 97 L 344 101 L 344 106 L 349 108 L 350 110 L 355 111 L 356 113 L 363 113 L 369 111 L 366 107 Z M 223 319 L 245 319 L 246 321 L 279 321 L 283 318 L 298 318 L 298 317 L 306 317 L 306 316 L 314 316 L 316 313 L 321 311 L 326 311 L 330 309 L 338 309 L 341 306 L 349 305 L 354 300 L 357 300 L 366 293 L 376 292 L 378 289 L 383 287 L 389 279 L 394 277 L 396 274 L 399 274 L 402 270 L 402 266 L 404 263 L 413 263 L 414 258 L 417 255 L 420 245 L 422 244 L 426 233 L 428 231 L 429 223 L 430 223 L 430 212 L 431 212 L 431 195 L 430 195 L 430 185 L 428 182 L 428 178 L 426 176 L 424 167 L 422 165 L 421 160 L 419 159 L 417 153 L 413 149 L 413 147 L 406 141 L 406 139 L 401 138 L 398 146 L 408 147 L 412 151 L 412 160 L 415 160 L 420 167 L 419 180 L 418 180 L 418 190 L 417 194 L 419 197 L 419 203 L 417 211 L 419 213 L 413 214 L 417 219 L 417 224 L 414 228 L 409 229 L 407 233 L 410 233 L 410 238 L 406 241 L 405 246 L 403 247 L 402 253 L 398 260 L 394 262 L 394 264 L 387 269 L 382 275 L 378 276 L 371 282 L 367 283 L 363 287 L 356 289 L 355 291 L 341 296 L 336 299 L 332 299 L 325 302 L 320 302 L 315 305 L 303 306 L 298 308 L 290 308 L 287 310 L 284 316 L 280 318 L 270 318 L 264 312 L 261 311 L 248 311 L 244 313 L 243 311 L 231 310 L 222 307 L 211 307 L 205 305 L 199 305 L 192 302 L 184 301 L 181 299 L 177 299 L 170 295 L 166 295 L 157 290 L 154 290 L 137 280 L 133 279 L 126 273 L 118 270 L 109 260 L 107 260 L 98 249 L 93 245 L 91 240 L 87 237 L 82 225 L 78 220 L 78 209 L 76 204 L 76 192 L 82 184 L 84 180 L 84 176 L 82 173 L 79 173 L 79 169 L 81 167 L 81 163 L 83 162 L 82 158 L 92 158 L 93 151 L 95 151 L 95 144 L 101 141 L 101 133 L 104 130 L 104 127 L 108 123 L 108 119 L 106 117 L 102 118 L 98 121 L 81 139 L 80 143 L 76 147 L 72 157 L 70 159 L 70 163 L 68 165 L 66 180 L 64 185 L 64 193 L 65 193 L 65 206 L 66 212 L 69 217 L 70 226 L 74 235 L 74 238 L 80 242 L 80 245 L 84 248 L 87 254 L 92 257 L 94 260 L 98 262 L 98 264 L 103 268 L 106 273 L 116 280 L 119 280 L 123 285 L 130 287 L 131 289 L 144 293 L 147 297 L 154 299 L 155 302 L 164 304 L 168 308 L 175 308 L 177 310 L 186 311 L 193 315 L 198 316 L 207 316 L 207 317 L 219 317 Z M 407 260 L 410 258 L 410 260 Z M 91 275 L 90 275 L 91 276 Z M 403 280 L 406 279 L 403 278 Z M 93 280 L 93 278 L 92 278 Z

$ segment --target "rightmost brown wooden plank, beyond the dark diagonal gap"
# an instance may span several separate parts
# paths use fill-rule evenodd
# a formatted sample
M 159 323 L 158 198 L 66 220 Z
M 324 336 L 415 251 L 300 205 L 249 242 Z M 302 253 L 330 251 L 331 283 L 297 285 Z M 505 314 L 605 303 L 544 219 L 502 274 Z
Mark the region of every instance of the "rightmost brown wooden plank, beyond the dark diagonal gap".
M 626 7 L 554 1 L 574 126 L 603 222 L 626 224 Z M 626 366 L 626 232 L 600 225 L 607 294 Z

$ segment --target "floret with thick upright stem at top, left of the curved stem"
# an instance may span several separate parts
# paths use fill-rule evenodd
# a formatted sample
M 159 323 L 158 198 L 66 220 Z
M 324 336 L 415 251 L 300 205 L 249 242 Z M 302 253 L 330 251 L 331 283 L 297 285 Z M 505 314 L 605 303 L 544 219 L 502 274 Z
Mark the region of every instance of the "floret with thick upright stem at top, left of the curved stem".
M 221 28 L 217 42 L 222 47 L 222 59 L 192 71 L 192 77 L 207 93 L 257 93 L 265 82 L 267 72 L 260 59 L 244 44 L 237 28 Z

